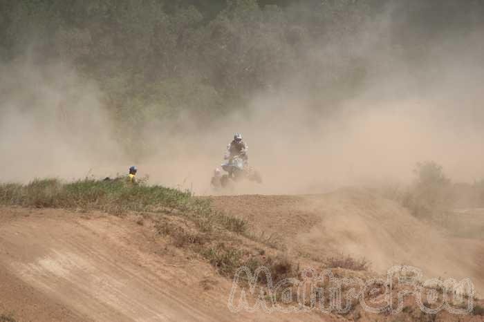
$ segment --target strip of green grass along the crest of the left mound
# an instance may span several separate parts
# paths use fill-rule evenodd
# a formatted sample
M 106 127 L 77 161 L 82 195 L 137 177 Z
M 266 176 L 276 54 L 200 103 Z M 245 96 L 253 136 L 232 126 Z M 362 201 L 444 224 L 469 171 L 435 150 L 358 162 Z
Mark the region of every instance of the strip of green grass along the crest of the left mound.
M 149 211 L 187 216 L 202 231 L 220 226 L 242 233 L 245 220 L 222 214 L 208 199 L 194 198 L 190 191 L 180 191 L 140 182 L 127 184 L 123 178 L 74 182 L 58 179 L 35 179 L 28 184 L 0 184 L 0 204 L 35 208 L 100 210 L 110 214 Z

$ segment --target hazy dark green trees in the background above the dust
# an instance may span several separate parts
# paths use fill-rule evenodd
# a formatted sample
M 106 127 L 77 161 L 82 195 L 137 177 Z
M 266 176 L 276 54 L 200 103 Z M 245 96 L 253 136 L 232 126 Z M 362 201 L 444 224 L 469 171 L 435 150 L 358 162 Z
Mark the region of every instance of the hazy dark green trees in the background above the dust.
M 334 108 L 384 65 L 382 55 L 425 64 L 425 47 L 408 46 L 416 37 L 431 46 L 483 23 L 475 2 L 0 0 L 0 63 L 74 66 L 100 86 L 129 144 L 147 120 L 176 127 L 191 113 L 205 128 L 288 84 L 304 88 L 310 106 Z M 382 29 L 384 15 L 392 23 Z

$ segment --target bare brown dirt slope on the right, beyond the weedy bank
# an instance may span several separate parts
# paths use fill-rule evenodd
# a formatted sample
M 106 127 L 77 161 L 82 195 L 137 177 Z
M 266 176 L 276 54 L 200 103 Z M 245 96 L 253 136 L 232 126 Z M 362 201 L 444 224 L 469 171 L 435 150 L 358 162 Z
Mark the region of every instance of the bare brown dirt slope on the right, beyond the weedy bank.
M 368 191 L 214 197 L 214 205 L 248 219 L 252 229 L 281 240 L 294 254 L 364 257 L 381 274 L 393 265 L 413 265 L 431 278 L 472 278 L 483 295 L 484 240 L 456 238 Z

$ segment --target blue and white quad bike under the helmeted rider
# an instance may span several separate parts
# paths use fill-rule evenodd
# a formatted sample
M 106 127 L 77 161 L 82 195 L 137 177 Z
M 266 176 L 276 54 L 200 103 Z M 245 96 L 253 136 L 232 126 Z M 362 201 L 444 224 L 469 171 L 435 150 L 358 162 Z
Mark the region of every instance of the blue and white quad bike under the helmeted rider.
M 255 170 L 242 158 L 241 155 L 226 157 L 227 162 L 222 164 L 222 169 L 227 173 L 222 174 L 220 169 L 216 169 L 212 177 L 212 186 L 216 189 L 230 187 L 234 182 L 249 180 L 262 183 L 259 171 Z

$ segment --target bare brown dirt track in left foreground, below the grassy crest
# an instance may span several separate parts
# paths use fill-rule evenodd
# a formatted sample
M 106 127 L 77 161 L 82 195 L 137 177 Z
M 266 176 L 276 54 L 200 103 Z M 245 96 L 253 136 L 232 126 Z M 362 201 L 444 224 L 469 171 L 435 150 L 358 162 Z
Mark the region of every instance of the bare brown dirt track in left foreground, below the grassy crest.
M 231 314 L 230 281 L 207 263 L 167 249 L 133 218 L 54 209 L 1 208 L 0 214 L 0 312 L 12 312 L 17 321 L 288 318 Z

